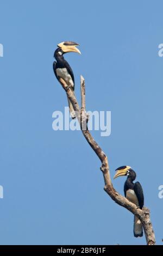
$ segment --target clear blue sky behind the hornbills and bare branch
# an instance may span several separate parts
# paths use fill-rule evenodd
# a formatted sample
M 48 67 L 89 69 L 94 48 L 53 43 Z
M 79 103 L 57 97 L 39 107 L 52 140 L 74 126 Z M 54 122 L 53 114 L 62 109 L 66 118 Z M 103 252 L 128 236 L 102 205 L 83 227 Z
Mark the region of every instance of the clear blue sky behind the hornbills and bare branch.
M 151 210 L 161 244 L 162 1 L 0 1 L 0 243 L 2 245 L 143 245 L 133 215 L 103 191 L 100 162 L 80 131 L 53 131 L 52 113 L 67 101 L 52 70 L 64 40 L 80 99 L 111 111 L 111 136 L 92 132 L 108 155 L 111 177 L 129 165 Z M 113 181 L 123 194 L 125 178 Z

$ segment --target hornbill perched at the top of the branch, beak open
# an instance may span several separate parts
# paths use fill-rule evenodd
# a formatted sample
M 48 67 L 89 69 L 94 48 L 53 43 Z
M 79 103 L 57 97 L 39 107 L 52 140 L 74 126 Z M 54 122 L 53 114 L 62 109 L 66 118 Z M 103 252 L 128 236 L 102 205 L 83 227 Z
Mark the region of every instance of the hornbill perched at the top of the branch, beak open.
M 64 59 L 63 55 L 66 52 L 77 52 L 81 54 L 78 48 L 76 47 L 79 45 L 76 42 L 65 41 L 65 42 L 61 42 L 57 46 L 58 48 L 54 52 L 54 58 L 57 60 L 57 62 L 53 63 L 54 74 L 57 77 L 59 82 L 60 82 L 60 78 L 62 78 L 66 82 L 68 88 L 71 88 L 72 90 L 74 90 L 73 71 L 71 69 L 71 66 Z M 68 99 L 68 105 L 69 105 L 71 117 L 76 118 L 76 113 L 74 112 L 72 103 L 69 99 Z

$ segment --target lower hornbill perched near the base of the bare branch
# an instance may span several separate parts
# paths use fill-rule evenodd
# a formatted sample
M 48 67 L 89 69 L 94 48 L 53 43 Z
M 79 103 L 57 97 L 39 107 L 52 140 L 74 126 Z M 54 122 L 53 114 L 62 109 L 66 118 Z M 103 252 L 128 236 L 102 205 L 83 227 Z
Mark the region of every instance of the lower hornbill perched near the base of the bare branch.
M 144 196 L 143 196 L 143 190 L 140 185 L 140 183 L 137 181 L 133 183 L 133 181 L 136 179 L 136 173 L 133 169 L 131 169 L 130 166 L 121 166 L 116 169 L 116 174 L 114 176 L 114 179 L 119 176 L 127 176 L 127 180 L 124 183 L 124 196 L 132 203 L 139 206 L 140 209 L 143 208 L 144 205 Z M 143 235 L 143 229 L 141 221 L 137 216 L 134 216 L 134 236 L 142 236 Z

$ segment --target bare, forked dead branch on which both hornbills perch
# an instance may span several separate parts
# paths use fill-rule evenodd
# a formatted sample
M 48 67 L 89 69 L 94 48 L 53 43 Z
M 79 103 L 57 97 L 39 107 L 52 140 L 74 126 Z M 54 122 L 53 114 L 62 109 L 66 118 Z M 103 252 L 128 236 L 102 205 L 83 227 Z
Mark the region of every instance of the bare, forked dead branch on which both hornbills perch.
M 95 151 L 96 155 L 99 157 L 99 160 L 101 160 L 101 163 L 102 163 L 101 170 L 102 170 L 104 182 L 105 182 L 104 190 L 106 193 L 108 193 L 108 195 L 112 198 L 112 200 L 114 200 L 114 202 L 116 202 L 118 205 L 123 206 L 124 208 L 126 208 L 127 210 L 129 210 L 134 215 L 140 218 L 143 225 L 143 229 L 145 231 L 147 245 L 155 245 L 155 235 L 154 235 L 154 231 L 153 231 L 153 227 L 150 219 L 149 210 L 147 208 L 143 208 L 142 210 L 137 208 L 135 204 L 131 203 L 127 198 L 121 196 L 121 194 L 115 190 L 115 188 L 112 186 L 112 183 L 111 183 L 108 157 L 105 155 L 103 150 L 99 147 L 95 139 L 93 139 L 87 127 L 86 129 L 83 129 L 83 119 L 84 120 L 86 119 L 85 118 L 86 117 L 85 80 L 83 76 L 80 77 L 80 81 L 81 81 L 80 84 L 81 84 L 81 97 L 82 97 L 81 111 L 73 90 L 68 88 L 65 81 L 62 80 L 62 78 L 60 78 L 62 87 L 66 91 L 66 94 L 73 105 L 74 111 L 76 111 L 77 118 L 80 123 L 80 127 L 83 132 L 83 135 L 86 141 L 90 144 L 91 148 Z M 82 112 L 84 112 L 84 117 Z

